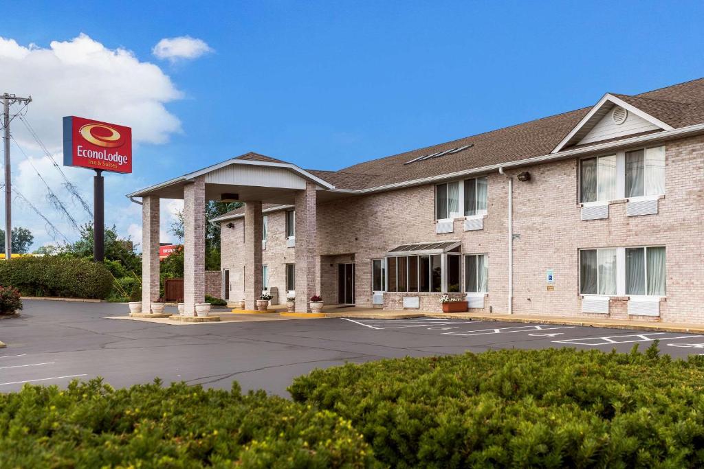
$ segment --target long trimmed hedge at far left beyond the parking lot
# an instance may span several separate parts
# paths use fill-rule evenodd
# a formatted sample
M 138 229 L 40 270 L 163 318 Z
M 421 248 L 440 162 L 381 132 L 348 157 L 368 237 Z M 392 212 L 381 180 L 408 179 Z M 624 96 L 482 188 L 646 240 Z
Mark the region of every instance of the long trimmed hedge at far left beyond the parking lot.
M 103 264 L 65 256 L 18 257 L 0 262 L 0 285 L 24 296 L 104 299 L 113 277 Z

